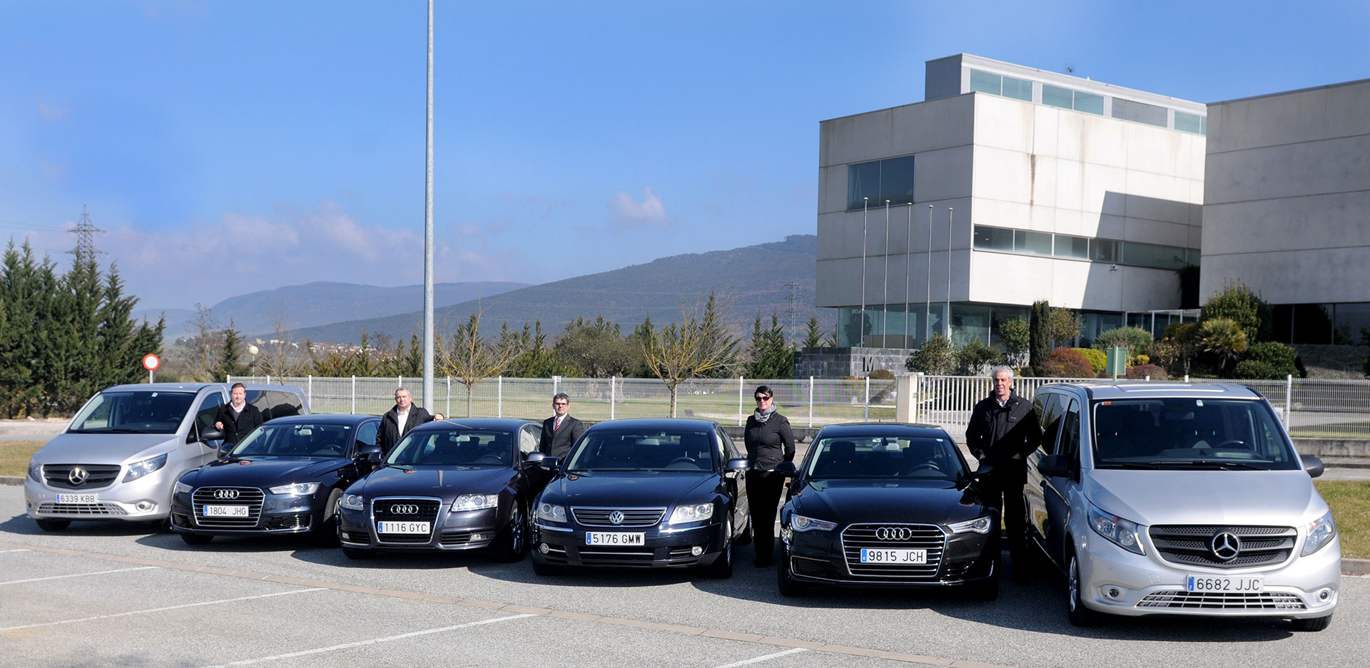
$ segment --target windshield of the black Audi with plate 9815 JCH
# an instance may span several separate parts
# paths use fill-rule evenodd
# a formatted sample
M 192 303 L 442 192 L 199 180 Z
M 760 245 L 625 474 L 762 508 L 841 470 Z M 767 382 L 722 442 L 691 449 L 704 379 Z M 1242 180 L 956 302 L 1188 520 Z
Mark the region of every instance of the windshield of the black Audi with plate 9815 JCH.
M 955 480 L 969 475 L 949 437 L 841 435 L 821 438 L 808 459 L 810 479 L 881 478 Z

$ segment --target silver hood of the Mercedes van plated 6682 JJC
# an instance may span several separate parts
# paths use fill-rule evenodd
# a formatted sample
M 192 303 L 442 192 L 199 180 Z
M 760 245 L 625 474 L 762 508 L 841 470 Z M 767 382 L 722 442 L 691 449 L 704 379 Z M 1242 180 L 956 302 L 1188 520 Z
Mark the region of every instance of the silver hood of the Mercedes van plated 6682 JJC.
M 1296 471 L 1089 471 L 1085 497 L 1144 526 L 1299 527 L 1328 512 L 1312 479 Z

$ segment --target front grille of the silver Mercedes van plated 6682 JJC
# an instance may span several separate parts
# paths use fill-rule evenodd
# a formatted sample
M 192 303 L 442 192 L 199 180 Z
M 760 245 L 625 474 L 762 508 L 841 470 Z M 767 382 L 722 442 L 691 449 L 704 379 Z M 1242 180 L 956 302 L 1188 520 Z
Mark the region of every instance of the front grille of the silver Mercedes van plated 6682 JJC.
M 1212 538 L 1230 532 L 1241 541 L 1236 558 L 1223 561 L 1212 552 Z M 1225 527 L 1218 524 L 1158 524 L 1147 530 L 1160 558 L 1178 565 L 1251 568 L 1277 565 L 1293 554 L 1299 532 L 1293 527 Z

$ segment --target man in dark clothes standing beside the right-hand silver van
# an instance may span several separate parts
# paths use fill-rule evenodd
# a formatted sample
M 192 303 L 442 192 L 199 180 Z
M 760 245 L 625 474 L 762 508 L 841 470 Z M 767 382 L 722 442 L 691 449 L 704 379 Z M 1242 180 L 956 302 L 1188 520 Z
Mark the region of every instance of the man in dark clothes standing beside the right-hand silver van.
M 1014 391 L 1014 370 L 995 367 L 991 371 L 995 389 L 989 397 L 975 404 L 966 426 L 966 448 L 993 470 L 981 482 L 985 505 L 999 508 L 1008 532 L 1008 557 L 1014 563 L 1014 579 L 1029 582 L 1025 564 L 1026 526 L 1023 522 L 1023 485 L 1028 482 L 1028 463 L 1023 457 L 1037 449 L 1041 424 L 1037 411 Z

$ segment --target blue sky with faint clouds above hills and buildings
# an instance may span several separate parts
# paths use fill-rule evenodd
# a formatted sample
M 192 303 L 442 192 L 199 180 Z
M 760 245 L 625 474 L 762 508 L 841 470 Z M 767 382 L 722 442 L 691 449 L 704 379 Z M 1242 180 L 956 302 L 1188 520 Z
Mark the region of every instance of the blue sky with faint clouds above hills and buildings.
M 0 235 L 140 307 L 422 281 L 426 3 L 0 0 Z M 1196 101 L 1370 78 L 1365 3 L 440 0 L 437 281 L 812 234 L 818 122 L 959 52 Z

